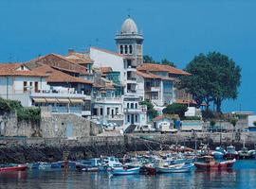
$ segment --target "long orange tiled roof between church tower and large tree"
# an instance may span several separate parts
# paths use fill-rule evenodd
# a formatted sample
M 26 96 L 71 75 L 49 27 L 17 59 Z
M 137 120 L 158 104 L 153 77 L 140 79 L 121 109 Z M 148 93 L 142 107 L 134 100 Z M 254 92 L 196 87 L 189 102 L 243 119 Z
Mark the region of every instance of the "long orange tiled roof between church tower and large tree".
M 169 74 L 183 76 L 191 75 L 190 73 L 174 68 L 173 66 L 156 63 L 143 63 L 141 66 L 137 67 L 137 70 L 148 72 L 168 72 Z

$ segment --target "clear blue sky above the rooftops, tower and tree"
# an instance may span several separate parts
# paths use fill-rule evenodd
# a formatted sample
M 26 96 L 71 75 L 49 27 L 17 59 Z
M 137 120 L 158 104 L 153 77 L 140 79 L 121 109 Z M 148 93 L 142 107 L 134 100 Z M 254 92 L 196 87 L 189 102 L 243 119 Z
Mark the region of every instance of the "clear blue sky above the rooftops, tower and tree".
M 256 112 L 255 0 L 0 0 L 0 61 L 90 45 L 116 50 L 128 12 L 143 32 L 144 54 L 155 60 L 184 68 L 213 50 L 235 60 L 243 69 L 240 94 L 223 110 Z

